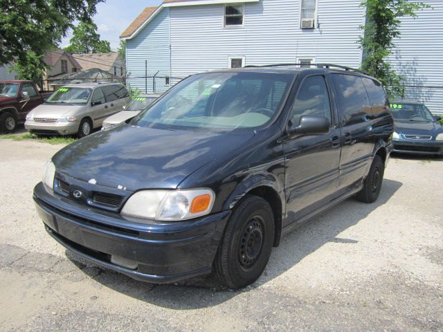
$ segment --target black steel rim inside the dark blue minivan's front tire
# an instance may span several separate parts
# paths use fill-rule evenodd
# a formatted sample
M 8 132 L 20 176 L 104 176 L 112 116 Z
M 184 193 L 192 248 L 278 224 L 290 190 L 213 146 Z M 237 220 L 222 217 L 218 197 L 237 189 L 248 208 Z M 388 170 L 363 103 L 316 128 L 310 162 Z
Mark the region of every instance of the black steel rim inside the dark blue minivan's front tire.
M 254 216 L 243 229 L 239 243 L 239 264 L 242 268 L 251 268 L 262 252 L 263 225 L 263 219 L 260 216 Z

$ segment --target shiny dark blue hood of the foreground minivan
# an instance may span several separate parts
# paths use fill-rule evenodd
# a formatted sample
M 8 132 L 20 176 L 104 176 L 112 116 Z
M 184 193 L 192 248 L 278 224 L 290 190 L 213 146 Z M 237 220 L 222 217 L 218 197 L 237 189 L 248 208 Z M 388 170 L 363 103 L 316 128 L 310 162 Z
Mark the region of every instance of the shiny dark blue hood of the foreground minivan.
M 229 157 L 253 138 L 242 133 L 172 131 L 127 124 L 100 131 L 53 156 L 58 172 L 126 190 L 176 188 L 213 159 Z

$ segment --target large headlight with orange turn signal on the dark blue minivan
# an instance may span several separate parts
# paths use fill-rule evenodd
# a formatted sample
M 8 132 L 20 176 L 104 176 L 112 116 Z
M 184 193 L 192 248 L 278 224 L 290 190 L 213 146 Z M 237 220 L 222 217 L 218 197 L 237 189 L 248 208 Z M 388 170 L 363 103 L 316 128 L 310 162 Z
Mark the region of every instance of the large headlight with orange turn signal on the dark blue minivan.
M 210 189 L 142 190 L 123 206 L 121 214 L 161 221 L 180 221 L 209 214 L 215 194 Z

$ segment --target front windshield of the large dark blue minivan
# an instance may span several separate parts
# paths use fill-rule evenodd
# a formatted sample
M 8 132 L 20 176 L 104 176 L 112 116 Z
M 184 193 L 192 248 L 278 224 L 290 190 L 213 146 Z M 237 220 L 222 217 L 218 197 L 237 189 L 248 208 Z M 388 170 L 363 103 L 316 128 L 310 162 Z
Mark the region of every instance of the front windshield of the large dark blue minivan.
M 159 129 L 257 128 L 280 109 L 293 74 L 221 72 L 193 75 L 132 120 Z

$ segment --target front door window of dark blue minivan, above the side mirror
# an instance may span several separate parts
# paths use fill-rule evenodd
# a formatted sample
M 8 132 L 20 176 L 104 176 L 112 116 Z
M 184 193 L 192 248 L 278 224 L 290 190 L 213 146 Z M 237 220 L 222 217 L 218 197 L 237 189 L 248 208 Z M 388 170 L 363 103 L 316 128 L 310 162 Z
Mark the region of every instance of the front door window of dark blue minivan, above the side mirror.
M 322 75 L 307 77 L 298 89 L 292 107 L 292 123 L 299 124 L 302 116 L 325 116 L 331 120 L 331 103 Z

